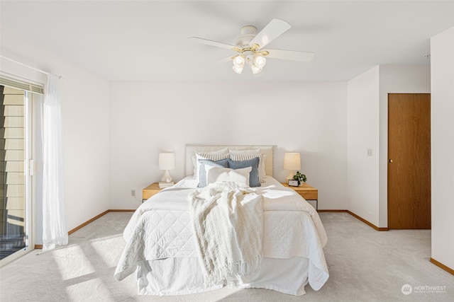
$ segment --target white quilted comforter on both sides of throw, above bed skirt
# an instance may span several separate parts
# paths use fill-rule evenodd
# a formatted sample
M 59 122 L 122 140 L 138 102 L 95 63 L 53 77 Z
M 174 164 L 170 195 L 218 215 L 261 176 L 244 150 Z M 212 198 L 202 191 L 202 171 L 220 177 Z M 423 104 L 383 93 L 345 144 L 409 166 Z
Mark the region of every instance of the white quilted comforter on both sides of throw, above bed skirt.
M 328 279 L 327 238 L 319 215 L 294 190 L 270 176 L 266 180 L 256 188 L 263 199 L 263 257 L 308 258 L 309 284 L 319 290 Z M 114 274 L 118 281 L 144 260 L 197 256 L 188 199 L 196 189 L 186 185 L 162 190 L 135 211 L 123 232 L 126 246 Z

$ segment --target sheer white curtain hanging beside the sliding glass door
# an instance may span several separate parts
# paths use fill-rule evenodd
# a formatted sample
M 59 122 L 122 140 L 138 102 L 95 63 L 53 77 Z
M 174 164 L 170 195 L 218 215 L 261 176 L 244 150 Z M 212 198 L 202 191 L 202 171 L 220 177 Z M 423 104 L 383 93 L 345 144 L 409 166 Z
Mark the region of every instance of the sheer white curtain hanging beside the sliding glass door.
M 59 79 L 53 74 L 48 76 L 43 106 L 43 251 L 68 243 Z

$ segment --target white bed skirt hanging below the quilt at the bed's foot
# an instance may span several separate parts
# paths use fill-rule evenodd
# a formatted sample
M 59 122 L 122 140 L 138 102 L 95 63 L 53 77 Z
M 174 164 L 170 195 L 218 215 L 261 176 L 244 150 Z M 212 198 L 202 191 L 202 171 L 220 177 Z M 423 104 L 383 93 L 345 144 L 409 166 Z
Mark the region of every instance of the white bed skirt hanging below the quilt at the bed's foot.
M 248 277 L 206 284 L 197 257 L 175 257 L 138 263 L 138 294 L 176 296 L 220 289 L 272 289 L 284 294 L 306 294 L 309 260 L 294 256 L 289 259 L 264 257 L 260 268 Z M 316 286 L 313 286 L 316 287 Z M 317 290 L 317 289 L 316 289 Z

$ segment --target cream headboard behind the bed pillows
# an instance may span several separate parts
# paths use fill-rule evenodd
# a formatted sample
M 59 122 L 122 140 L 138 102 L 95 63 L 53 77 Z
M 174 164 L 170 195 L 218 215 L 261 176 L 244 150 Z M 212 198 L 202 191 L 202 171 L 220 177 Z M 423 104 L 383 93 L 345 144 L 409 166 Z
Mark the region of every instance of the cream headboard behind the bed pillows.
M 228 148 L 231 150 L 249 150 L 260 149 L 260 153 L 265 154 L 265 172 L 272 176 L 274 149 L 273 145 L 206 145 L 206 144 L 188 144 L 186 145 L 186 154 L 184 156 L 184 176 L 194 174 L 194 165 L 192 156 L 195 152 L 209 152 Z

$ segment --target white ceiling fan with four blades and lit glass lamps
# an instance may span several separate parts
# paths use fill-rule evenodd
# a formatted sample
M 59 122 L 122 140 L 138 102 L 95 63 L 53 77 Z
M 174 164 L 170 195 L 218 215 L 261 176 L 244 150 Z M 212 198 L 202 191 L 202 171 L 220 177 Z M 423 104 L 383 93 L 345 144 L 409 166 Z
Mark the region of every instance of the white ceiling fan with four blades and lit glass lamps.
M 299 62 L 309 62 L 311 59 L 314 59 L 314 52 L 272 50 L 264 48 L 268 43 L 275 40 L 279 35 L 282 35 L 291 27 L 292 26 L 289 23 L 279 19 L 272 19 L 272 21 L 270 21 L 265 28 L 260 30 L 259 33 L 257 33 L 257 28 L 255 28 L 255 26 L 243 26 L 243 28 L 240 29 L 241 35 L 236 37 L 233 41 L 234 45 L 207 40 L 201 37 L 189 37 L 189 39 L 202 44 L 222 47 L 237 52 L 237 54 L 221 59 L 221 61 L 215 62 L 214 64 L 232 61 L 232 69 L 237 74 L 241 74 L 244 66 L 248 64 L 253 74 L 258 74 L 262 71 L 263 66 L 265 66 L 267 58 L 287 59 Z

